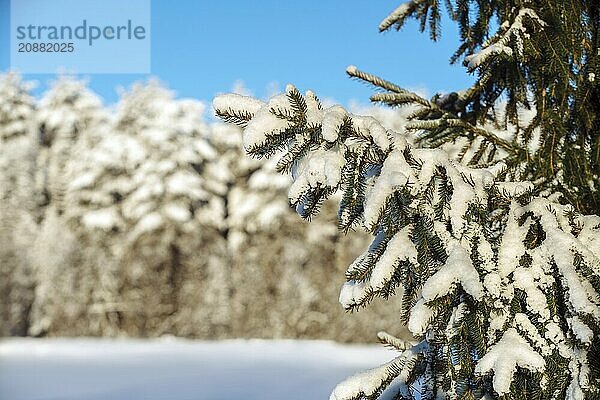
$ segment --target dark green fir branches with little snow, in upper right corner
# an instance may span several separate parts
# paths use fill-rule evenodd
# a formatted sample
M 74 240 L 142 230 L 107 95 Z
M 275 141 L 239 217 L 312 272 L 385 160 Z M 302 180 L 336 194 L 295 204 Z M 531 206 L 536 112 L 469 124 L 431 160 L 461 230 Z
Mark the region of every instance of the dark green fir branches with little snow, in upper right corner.
M 468 88 L 430 100 L 351 68 L 381 93 L 372 100 L 393 106 L 418 103 L 409 128 L 424 128 L 428 146 L 466 140 L 484 164 L 496 151 L 515 180 L 561 192 L 583 213 L 598 214 L 600 201 L 600 11 L 595 1 L 412 0 L 380 25 L 401 29 L 414 19 L 433 40 L 445 12 L 458 27 L 451 57 L 476 76 Z M 502 107 L 499 108 L 499 103 Z M 487 127 L 488 129 L 478 129 Z M 494 130 L 512 131 L 510 137 Z

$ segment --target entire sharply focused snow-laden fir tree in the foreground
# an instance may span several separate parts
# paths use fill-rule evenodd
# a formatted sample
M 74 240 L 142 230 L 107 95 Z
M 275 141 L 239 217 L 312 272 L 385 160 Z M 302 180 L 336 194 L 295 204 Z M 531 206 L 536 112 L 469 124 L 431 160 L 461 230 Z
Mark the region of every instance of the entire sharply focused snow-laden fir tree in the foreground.
M 427 100 L 347 70 L 385 90 L 373 101 L 414 107 L 400 130 L 292 85 L 268 102 L 222 95 L 214 108 L 244 128 L 249 154 L 283 152 L 300 216 L 341 192 L 340 229 L 373 235 L 346 272 L 344 308 L 403 289 L 399 322 L 415 341 L 380 333 L 398 357 L 331 399 L 600 398 L 600 217 L 580 213 L 600 211 L 598 5 L 446 5 L 462 35 L 454 60 L 478 73 L 472 88 Z M 408 18 L 437 38 L 438 1 L 404 3 L 380 29 Z M 427 148 L 457 138 L 458 157 Z

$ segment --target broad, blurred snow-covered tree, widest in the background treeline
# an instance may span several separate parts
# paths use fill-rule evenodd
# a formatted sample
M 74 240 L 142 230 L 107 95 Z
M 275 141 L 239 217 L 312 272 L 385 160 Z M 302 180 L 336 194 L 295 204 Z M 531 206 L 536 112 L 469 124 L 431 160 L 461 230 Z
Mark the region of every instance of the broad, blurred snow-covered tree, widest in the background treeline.
M 93 309 L 122 333 L 191 335 L 211 325 L 213 303 L 227 301 L 208 296 L 221 288 L 207 275 L 225 268 L 225 246 L 217 234 L 223 188 L 206 176 L 216 153 L 202 137 L 202 110 L 155 82 L 136 85 L 102 137 L 70 163 L 66 218 L 115 260 L 98 271 Z

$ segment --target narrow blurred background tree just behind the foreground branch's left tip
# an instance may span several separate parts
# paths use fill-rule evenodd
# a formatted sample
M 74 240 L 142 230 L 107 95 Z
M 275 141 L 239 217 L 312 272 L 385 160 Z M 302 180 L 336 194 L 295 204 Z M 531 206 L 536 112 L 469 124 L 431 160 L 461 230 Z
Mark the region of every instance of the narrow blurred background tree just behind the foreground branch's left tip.
M 261 337 L 268 335 L 265 329 L 268 326 L 276 336 L 281 336 L 283 328 L 278 311 L 282 304 L 277 290 L 280 280 L 275 276 L 282 251 L 280 243 L 272 239 L 274 231 L 289 220 L 289 206 L 281 196 L 288 181 L 264 162 L 244 157 L 239 128 L 220 123 L 211 125 L 207 139 L 219 155 L 207 169 L 225 189 L 219 194 L 223 204 L 220 233 L 228 255 L 227 268 L 216 271 L 222 276 L 221 283 L 214 282 L 212 290 L 223 286 L 227 290 L 232 333 Z M 271 254 L 257 251 L 264 247 Z M 224 282 L 228 284 L 223 285 Z

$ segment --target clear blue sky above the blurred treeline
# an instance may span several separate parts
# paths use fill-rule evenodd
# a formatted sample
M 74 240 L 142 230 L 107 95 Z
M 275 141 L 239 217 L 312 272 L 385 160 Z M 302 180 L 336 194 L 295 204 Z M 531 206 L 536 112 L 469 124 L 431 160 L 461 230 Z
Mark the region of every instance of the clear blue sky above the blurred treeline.
M 437 43 L 415 24 L 378 33 L 380 20 L 401 1 L 153 0 L 152 74 L 86 77 L 108 103 L 117 86 L 149 76 L 180 97 L 207 101 L 241 81 L 260 97 L 291 82 L 343 104 L 366 103 L 372 90 L 346 76 L 350 64 L 429 94 L 472 82 L 462 66 L 448 64 L 458 43 L 455 26 L 444 24 Z M 0 0 L 0 71 L 10 67 L 9 14 L 9 0 Z M 39 81 L 37 91 L 52 79 L 25 77 Z

